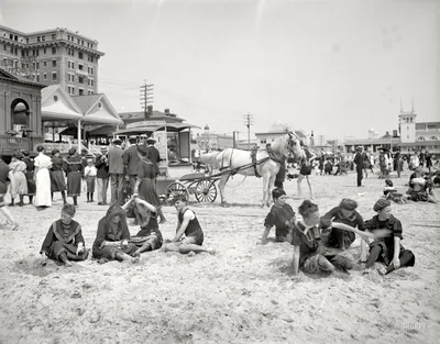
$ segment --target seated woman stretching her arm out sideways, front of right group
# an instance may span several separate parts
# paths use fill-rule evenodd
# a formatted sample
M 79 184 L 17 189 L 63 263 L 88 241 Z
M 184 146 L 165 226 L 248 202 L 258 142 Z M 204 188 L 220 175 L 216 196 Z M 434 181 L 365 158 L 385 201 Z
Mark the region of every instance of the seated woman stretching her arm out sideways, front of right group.
M 362 236 L 370 236 L 370 233 L 363 233 L 344 223 L 322 221 L 319 218 L 318 206 L 305 200 L 298 208 L 302 220 L 296 220 L 293 224 L 292 245 L 294 245 L 293 269 L 294 275 L 301 269 L 304 273 L 333 273 L 340 270 L 349 274 L 349 269 L 353 268 L 353 264 L 349 258 L 339 255 L 326 253 L 321 246 L 320 228 L 338 228 L 346 231 L 353 231 Z

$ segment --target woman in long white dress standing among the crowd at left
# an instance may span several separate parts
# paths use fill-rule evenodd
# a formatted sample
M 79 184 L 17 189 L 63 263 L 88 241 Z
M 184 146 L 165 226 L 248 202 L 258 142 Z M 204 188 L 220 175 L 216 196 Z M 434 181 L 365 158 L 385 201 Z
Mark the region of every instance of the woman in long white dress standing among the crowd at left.
M 36 148 L 38 156 L 35 157 L 35 207 L 44 209 L 52 206 L 51 195 L 51 175 L 48 169 L 52 166 L 52 159 L 44 154 L 44 147 Z

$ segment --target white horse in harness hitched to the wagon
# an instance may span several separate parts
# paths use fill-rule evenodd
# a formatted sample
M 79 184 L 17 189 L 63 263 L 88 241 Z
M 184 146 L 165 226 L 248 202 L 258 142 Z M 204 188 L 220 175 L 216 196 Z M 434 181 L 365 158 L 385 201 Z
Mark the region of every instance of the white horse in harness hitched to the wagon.
M 234 174 L 244 176 L 263 177 L 263 200 L 261 206 L 270 207 L 271 192 L 275 187 L 275 177 L 284 157 L 304 156 L 300 141 L 295 133 L 288 132 L 267 145 L 266 148 L 257 149 L 254 157 L 249 151 L 227 148 L 217 154 L 211 166 L 221 173 L 219 182 L 222 206 L 227 206 L 224 198 L 224 186 L 229 177 Z M 201 156 L 200 156 L 201 158 Z M 212 158 L 212 156 L 211 156 Z

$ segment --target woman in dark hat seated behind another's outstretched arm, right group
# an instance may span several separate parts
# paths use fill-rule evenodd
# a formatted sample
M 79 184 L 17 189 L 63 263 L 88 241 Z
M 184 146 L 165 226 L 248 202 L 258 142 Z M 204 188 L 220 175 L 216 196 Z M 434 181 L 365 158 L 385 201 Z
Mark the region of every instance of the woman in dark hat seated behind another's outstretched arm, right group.
M 356 211 L 356 201 L 344 198 L 339 203 L 339 207 L 334 207 L 328 213 L 321 218 L 321 222 L 331 221 L 332 223 L 344 223 L 352 228 L 358 228 L 360 231 L 365 231 L 365 223 L 361 214 Z M 331 229 L 331 232 L 327 236 L 326 246 L 346 249 L 356 238 L 353 232 L 343 231 L 341 229 Z

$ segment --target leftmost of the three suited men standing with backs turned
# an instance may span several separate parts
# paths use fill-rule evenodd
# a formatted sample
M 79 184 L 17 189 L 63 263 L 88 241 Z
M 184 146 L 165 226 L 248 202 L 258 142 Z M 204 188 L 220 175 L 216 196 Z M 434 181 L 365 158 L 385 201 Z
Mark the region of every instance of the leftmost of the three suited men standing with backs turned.
M 114 138 L 112 141 L 113 145 L 109 148 L 109 174 L 110 174 L 110 190 L 111 200 L 113 203 L 118 201 L 118 193 L 120 193 L 123 181 L 123 155 L 124 151 L 121 147 L 121 138 Z

